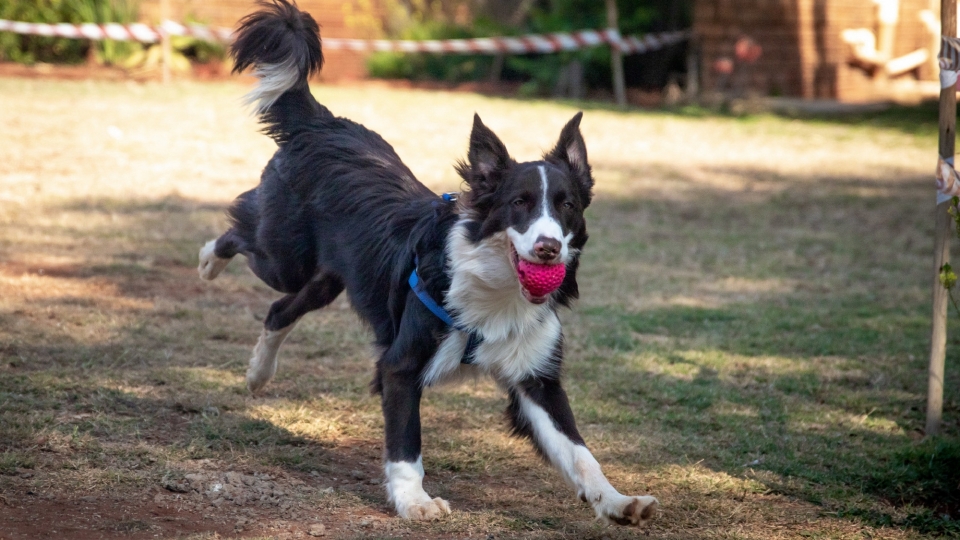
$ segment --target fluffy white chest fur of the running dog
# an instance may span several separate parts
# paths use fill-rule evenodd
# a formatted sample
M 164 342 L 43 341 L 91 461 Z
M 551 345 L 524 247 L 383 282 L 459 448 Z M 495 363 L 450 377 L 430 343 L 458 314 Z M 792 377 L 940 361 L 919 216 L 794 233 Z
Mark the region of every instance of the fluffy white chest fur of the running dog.
M 530 375 L 551 375 L 560 320 L 549 303 L 536 305 L 523 297 L 506 233 L 473 244 L 461 222 L 450 233 L 447 253 L 451 284 L 446 308 L 459 325 L 483 337 L 471 365 L 508 385 Z M 451 329 L 424 371 L 424 386 L 461 371 L 467 339 L 466 333 Z

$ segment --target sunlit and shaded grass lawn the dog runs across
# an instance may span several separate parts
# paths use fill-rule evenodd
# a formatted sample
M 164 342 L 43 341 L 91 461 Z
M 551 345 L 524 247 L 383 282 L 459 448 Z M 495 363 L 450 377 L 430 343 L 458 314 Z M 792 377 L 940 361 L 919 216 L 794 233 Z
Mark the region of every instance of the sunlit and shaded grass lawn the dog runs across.
M 923 438 L 936 108 L 843 119 L 618 112 L 315 86 L 456 190 L 473 112 L 520 160 L 586 109 L 597 180 L 566 381 L 604 528 L 505 433 L 487 380 L 431 390 L 427 490 L 386 502 L 371 336 L 341 299 L 243 374 L 270 302 L 197 251 L 274 151 L 246 83 L 0 79 L 0 538 L 960 537 L 960 337 Z M 951 312 L 951 325 L 956 314 Z

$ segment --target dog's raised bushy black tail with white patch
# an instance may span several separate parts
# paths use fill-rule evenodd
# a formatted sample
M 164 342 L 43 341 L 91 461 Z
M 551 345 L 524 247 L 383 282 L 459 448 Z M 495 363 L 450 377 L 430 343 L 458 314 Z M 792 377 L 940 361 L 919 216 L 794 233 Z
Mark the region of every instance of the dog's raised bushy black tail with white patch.
M 230 46 L 233 71 L 253 66 L 260 78 L 246 95 L 247 105 L 277 143 L 285 142 L 297 127 L 318 114 L 330 114 L 310 94 L 307 78 L 320 71 L 323 52 L 320 27 L 309 13 L 290 0 L 259 0 L 260 9 L 240 20 Z

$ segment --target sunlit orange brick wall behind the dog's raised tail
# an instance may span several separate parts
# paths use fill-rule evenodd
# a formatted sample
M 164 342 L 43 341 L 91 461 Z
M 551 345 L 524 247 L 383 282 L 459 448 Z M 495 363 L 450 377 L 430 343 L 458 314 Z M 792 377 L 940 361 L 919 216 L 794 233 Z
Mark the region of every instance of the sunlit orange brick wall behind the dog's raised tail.
M 204 24 L 233 28 L 244 15 L 254 11 L 253 0 L 168 0 L 169 18 L 183 22 L 188 18 Z M 371 4 L 371 2 L 366 2 Z M 346 14 L 356 4 L 340 0 L 298 0 L 301 10 L 320 24 L 321 37 L 379 37 L 360 35 L 363 29 L 350 28 Z M 161 0 L 141 0 L 140 19 L 155 23 L 161 19 Z M 377 5 L 373 3 L 376 10 Z M 368 31 L 367 31 L 368 32 Z M 366 55 L 352 51 L 325 50 L 322 80 L 349 80 L 367 76 Z

